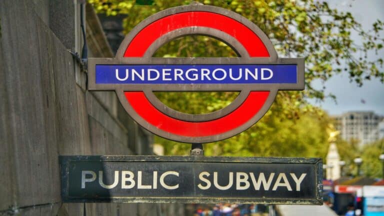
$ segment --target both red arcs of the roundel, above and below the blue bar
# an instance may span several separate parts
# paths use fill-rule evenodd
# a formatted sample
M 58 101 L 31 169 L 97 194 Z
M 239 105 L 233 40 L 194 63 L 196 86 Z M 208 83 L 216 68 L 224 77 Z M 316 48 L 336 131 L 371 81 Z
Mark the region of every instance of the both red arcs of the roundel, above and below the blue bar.
M 166 26 L 166 27 L 164 27 Z M 260 38 L 248 27 L 228 16 L 205 11 L 176 13 L 160 18 L 135 35 L 124 52 L 124 57 L 142 57 L 147 48 L 162 35 L 183 27 L 219 29 L 236 38 L 251 57 L 269 57 Z M 218 119 L 190 122 L 175 119 L 157 110 L 142 91 L 125 91 L 126 99 L 146 122 L 166 132 L 180 136 L 212 136 L 228 132 L 252 118 L 265 103 L 269 91 L 252 91 L 233 112 Z

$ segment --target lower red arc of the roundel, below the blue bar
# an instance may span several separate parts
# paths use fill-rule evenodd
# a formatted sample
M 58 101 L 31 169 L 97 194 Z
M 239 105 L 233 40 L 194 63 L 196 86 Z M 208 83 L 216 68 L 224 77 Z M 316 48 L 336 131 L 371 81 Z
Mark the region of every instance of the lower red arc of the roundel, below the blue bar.
M 180 136 L 212 136 L 239 127 L 252 118 L 268 98 L 269 91 L 251 91 L 245 101 L 233 112 L 220 118 L 191 122 L 167 116 L 156 109 L 142 91 L 125 91 L 132 108 L 148 123 Z

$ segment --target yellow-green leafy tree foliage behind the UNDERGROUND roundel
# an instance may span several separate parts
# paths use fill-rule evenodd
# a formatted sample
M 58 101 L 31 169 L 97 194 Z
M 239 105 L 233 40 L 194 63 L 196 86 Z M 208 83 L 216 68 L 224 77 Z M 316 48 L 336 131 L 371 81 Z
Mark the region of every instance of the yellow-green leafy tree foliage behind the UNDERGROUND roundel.
M 193 3 L 190 0 L 154 0 L 152 5 L 135 5 L 134 0 L 88 0 L 98 12 L 126 14 L 124 31 L 129 32 L 147 16 L 168 7 Z M 382 48 L 383 22 L 363 31 L 351 13 L 332 9 L 325 1 L 314 0 L 198 0 L 224 7 L 245 16 L 258 25 L 272 40 L 280 57 L 306 57 L 304 91 L 279 92 L 265 116 L 245 132 L 221 142 L 206 145 L 207 155 L 244 156 L 321 156 L 326 154 L 326 125 L 329 118 L 311 106 L 306 98 L 324 99 L 324 89 L 315 89 L 312 81 L 327 80 L 343 70 L 351 81 L 384 81 L 382 58 L 369 60 L 367 52 Z M 358 32 L 355 42 L 351 33 Z M 235 56 L 225 43 L 206 36 L 185 36 L 159 48 L 155 56 Z M 361 56 L 356 58 L 356 56 Z M 379 70 L 380 68 L 380 70 Z M 163 103 L 189 113 L 220 109 L 236 97 L 237 92 L 157 92 Z M 186 154 L 189 144 L 175 144 L 157 137 L 170 154 Z

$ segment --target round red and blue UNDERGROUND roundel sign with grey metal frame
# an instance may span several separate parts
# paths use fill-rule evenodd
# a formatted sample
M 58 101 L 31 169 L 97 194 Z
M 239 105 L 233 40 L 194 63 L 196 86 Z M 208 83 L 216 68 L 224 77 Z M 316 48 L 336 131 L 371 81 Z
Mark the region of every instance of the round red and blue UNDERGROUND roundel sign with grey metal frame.
M 217 38 L 238 57 L 152 57 L 164 43 L 191 34 Z M 279 58 L 265 33 L 235 12 L 185 5 L 140 22 L 114 58 L 89 58 L 88 89 L 114 90 L 129 115 L 159 136 L 206 143 L 252 126 L 278 90 L 304 89 L 304 59 Z M 188 114 L 164 105 L 154 91 L 238 91 L 239 95 L 215 112 Z

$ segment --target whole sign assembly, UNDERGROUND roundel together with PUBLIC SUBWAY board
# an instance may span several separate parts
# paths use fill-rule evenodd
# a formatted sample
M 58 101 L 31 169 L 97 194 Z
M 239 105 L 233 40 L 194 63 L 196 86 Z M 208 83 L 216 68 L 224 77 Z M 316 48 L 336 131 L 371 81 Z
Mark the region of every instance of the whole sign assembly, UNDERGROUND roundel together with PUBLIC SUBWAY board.
M 238 57 L 158 58 L 180 36 L 217 38 Z M 213 142 L 259 120 L 278 90 L 304 88 L 304 59 L 278 58 L 268 37 L 232 11 L 205 5 L 160 11 L 139 23 L 114 58 L 88 59 L 88 89 L 114 90 L 129 115 L 168 139 Z M 187 114 L 155 91 L 239 91 L 228 106 Z M 64 202 L 322 204 L 319 158 L 60 156 Z

